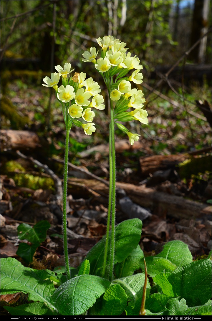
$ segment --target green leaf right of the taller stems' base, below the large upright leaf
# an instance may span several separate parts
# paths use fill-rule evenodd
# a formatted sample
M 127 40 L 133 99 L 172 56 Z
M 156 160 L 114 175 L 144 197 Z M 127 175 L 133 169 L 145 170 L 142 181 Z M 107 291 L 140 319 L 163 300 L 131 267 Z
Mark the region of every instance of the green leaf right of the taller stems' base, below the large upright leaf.
M 140 245 L 138 245 L 124 261 L 115 264 L 115 277 L 123 278 L 132 275 L 135 270 L 140 268 L 140 261 L 143 257 L 143 251 L 141 250 Z

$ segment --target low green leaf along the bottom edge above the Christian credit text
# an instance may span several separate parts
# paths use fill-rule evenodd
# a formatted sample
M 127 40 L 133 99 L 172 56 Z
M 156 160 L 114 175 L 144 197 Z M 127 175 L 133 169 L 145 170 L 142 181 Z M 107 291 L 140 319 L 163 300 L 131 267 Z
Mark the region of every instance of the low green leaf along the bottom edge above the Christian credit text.
M 17 307 L 4 307 L 12 316 L 55 316 L 56 311 L 48 308 L 43 302 L 22 304 Z

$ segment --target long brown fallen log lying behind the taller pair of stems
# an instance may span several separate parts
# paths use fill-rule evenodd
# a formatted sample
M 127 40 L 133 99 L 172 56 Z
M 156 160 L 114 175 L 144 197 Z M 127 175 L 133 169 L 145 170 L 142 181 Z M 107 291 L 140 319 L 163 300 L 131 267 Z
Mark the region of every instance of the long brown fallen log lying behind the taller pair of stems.
M 163 192 L 157 192 L 152 188 L 136 186 L 128 183 L 116 183 L 117 188 L 123 189 L 130 199 L 142 206 L 152 210 L 152 213 L 159 216 L 171 216 L 175 218 L 200 218 L 204 215 L 211 215 L 211 206 L 184 199 L 180 196 L 169 195 Z M 68 192 L 70 194 L 83 197 L 88 193 L 88 189 L 101 195 L 108 195 L 108 187 L 93 179 L 68 179 Z

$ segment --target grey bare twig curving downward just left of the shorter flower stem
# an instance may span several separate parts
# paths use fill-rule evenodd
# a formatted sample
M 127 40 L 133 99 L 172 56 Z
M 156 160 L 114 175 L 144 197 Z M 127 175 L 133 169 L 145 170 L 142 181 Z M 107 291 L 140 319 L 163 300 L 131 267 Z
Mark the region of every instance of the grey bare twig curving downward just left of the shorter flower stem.
M 47 165 L 41 164 L 38 160 L 34 160 L 34 158 L 25 156 L 19 151 L 16 151 L 16 154 L 20 156 L 21 158 L 30 160 L 33 164 L 37 165 L 39 168 L 44 169 L 47 174 L 50 175 L 50 177 L 55 182 L 55 190 L 56 190 L 56 203 L 58 205 L 61 205 L 62 197 L 63 197 L 63 189 L 62 189 L 62 181 L 61 179 L 51 170 L 48 168 Z

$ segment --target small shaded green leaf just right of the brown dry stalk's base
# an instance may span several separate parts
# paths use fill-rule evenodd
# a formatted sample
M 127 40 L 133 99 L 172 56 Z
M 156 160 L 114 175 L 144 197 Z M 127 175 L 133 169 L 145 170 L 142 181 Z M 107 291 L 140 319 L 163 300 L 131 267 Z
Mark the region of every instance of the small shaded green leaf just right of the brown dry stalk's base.
M 146 299 L 145 309 L 157 313 L 165 309 L 166 303 L 171 299 L 163 293 L 153 293 Z

